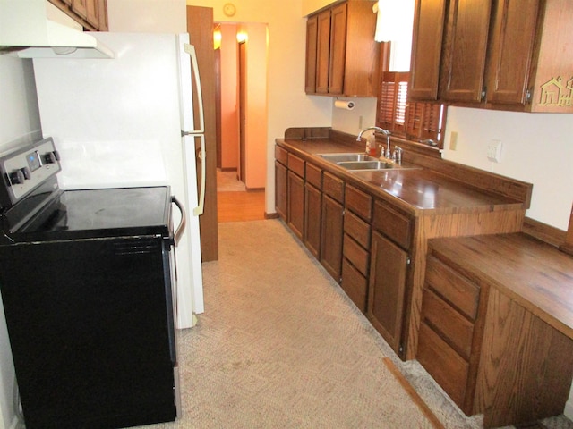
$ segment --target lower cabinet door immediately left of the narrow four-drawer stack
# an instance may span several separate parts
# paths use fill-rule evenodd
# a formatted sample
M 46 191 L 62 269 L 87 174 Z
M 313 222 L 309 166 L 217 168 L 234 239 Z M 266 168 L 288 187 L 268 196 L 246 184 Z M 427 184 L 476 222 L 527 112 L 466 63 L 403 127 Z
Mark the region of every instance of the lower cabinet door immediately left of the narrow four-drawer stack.
M 336 282 L 340 282 L 344 211 L 328 195 L 322 197 L 321 264 Z

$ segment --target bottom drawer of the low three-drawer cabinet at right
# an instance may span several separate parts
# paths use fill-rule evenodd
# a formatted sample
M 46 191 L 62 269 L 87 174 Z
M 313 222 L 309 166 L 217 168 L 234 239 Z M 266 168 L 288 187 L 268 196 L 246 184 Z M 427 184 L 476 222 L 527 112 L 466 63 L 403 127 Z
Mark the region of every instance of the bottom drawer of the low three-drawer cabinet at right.
M 469 365 L 423 322 L 420 324 L 416 359 L 458 407 L 463 408 Z

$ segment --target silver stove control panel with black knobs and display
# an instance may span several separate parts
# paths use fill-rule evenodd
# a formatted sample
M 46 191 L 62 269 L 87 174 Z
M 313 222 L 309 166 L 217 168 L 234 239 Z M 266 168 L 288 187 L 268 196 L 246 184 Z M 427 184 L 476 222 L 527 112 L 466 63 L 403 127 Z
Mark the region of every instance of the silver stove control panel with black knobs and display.
M 0 205 L 12 206 L 61 169 L 51 137 L 0 157 Z

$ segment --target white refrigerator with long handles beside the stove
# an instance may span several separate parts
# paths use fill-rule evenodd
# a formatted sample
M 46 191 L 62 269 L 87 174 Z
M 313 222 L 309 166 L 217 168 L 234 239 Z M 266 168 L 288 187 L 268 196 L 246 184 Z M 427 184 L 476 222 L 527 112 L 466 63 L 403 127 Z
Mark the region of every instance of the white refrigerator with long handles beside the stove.
M 196 163 L 205 160 L 205 144 L 194 48 L 188 34 L 91 34 L 115 58 L 33 60 L 42 134 L 61 156 L 60 187 L 171 187 L 187 212 L 176 248 L 177 327 L 191 327 L 204 310 L 198 216 L 205 181 L 198 189 Z

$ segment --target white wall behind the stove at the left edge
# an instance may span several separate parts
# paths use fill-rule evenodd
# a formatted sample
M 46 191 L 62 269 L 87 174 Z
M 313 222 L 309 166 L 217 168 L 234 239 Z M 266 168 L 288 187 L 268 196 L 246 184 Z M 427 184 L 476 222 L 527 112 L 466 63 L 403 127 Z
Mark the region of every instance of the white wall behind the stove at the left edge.
M 39 128 L 31 60 L 0 55 L 0 153 L 39 136 Z M 16 426 L 13 383 L 12 350 L 0 305 L 0 429 Z

